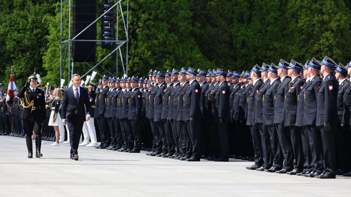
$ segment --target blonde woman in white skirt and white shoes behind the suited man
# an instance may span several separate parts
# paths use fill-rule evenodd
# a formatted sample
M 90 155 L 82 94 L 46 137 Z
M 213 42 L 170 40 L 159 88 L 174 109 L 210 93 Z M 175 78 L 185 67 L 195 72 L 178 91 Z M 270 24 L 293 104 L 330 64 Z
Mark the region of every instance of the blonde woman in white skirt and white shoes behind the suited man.
M 53 93 L 55 96 L 55 99 L 51 102 L 51 115 L 50 115 L 50 119 L 49 119 L 49 126 L 53 126 L 54 130 L 55 130 L 55 136 L 56 136 L 56 141 L 54 143 L 52 143 L 52 146 L 59 146 L 60 142 L 60 130 L 59 130 L 59 126 L 60 124 L 62 124 L 62 120 L 61 120 L 61 116 L 59 113 L 59 108 L 61 105 L 61 100 L 63 98 L 62 96 L 62 92 L 59 88 L 55 88 Z

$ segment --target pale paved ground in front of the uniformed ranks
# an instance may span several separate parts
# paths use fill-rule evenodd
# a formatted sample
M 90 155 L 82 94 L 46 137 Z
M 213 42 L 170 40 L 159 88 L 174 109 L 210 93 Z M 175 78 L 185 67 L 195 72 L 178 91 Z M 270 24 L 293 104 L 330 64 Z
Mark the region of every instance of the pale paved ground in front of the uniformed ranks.
M 351 179 L 321 180 L 245 169 L 252 162 L 185 162 L 79 147 L 42 145 L 27 158 L 24 138 L 0 136 L 0 196 L 350 197 Z M 33 144 L 33 148 L 35 145 Z

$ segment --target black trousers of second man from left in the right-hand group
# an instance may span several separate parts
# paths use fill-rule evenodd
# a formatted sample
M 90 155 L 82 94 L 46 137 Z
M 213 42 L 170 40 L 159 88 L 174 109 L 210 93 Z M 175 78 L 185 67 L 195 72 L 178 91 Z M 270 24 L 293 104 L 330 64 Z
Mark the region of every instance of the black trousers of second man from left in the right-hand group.
M 269 137 L 269 132 L 267 125 L 259 124 L 260 137 L 261 137 L 261 146 L 262 146 L 262 156 L 263 156 L 263 166 L 266 169 L 269 169 L 273 165 L 273 155 L 271 148 L 271 139 Z

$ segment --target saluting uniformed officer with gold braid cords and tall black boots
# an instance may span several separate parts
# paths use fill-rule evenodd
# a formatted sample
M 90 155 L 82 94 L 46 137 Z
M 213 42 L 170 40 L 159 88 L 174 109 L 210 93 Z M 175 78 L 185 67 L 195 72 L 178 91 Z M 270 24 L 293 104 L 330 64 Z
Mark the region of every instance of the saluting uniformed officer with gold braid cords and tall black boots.
M 45 96 L 44 91 L 37 87 L 38 78 L 34 74 L 28 76 L 25 86 L 19 91 L 18 97 L 21 98 L 21 106 L 24 108 L 21 114 L 23 119 L 23 131 L 26 134 L 28 158 L 33 158 L 32 135 L 35 132 L 35 157 L 42 157 L 41 148 L 41 127 L 45 121 Z

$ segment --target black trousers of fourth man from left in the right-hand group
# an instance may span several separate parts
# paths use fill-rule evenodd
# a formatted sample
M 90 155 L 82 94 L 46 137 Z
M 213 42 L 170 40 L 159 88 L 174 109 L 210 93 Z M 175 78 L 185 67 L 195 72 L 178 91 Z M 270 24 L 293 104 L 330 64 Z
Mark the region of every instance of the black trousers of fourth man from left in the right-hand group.
M 288 127 L 282 128 L 280 124 L 275 124 L 280 148 L 282 148 L 283 156 L 284 156 L 284 164 L 283 168 L 286 170 L 293 170 L 294 169 L 294 154 L 291 145 L 291 137 Z

